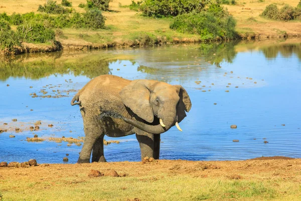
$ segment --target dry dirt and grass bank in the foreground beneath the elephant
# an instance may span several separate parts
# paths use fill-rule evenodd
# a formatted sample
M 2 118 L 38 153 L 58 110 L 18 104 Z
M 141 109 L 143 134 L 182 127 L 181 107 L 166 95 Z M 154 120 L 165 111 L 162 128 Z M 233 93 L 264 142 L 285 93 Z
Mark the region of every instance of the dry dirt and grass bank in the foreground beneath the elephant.
M 0 200 L 300 200 L 301 159 L 258 159 L 2 167 Z

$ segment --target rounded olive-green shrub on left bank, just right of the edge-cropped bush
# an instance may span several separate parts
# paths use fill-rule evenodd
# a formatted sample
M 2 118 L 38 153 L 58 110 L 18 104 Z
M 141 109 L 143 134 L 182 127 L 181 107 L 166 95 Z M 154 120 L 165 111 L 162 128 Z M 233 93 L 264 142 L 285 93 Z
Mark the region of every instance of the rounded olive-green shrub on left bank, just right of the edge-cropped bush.
M 19 25 L 17 33 L 22 41 L 45 43 L 46 41 L 54 42 L 55 33 L 53 30 L 46 28 L 41 23 L 28 23 Z

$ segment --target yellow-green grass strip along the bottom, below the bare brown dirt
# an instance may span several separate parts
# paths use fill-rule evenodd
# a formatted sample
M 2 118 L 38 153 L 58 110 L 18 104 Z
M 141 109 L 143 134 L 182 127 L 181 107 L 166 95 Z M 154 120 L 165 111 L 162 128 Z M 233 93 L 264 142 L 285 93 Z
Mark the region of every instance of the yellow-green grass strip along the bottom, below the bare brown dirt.
M 15 181 L 2 185 L 4 200 L 298 200 L 290 181 L 244 181 L 179 176 L 62 177 L 56 181 Z M 18 186 L 16 188 L 15 186 Z M 288 190 L 289 189 L 289 190 Z M 283 193 L 285 191 L 285 193 Z M 26 192 L 26 193 L 24 193 Z

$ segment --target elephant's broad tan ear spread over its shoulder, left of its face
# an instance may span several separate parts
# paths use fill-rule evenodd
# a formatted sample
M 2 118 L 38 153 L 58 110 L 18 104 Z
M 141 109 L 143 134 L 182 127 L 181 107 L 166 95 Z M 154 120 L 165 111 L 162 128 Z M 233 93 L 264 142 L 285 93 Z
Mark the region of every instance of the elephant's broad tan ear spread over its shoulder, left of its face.
M 149 88 L 155 83 L 155 80 L 137 79 L 131 81 L 119 92 L 123 104 L 149 123 L 154 121 L 153 108 L 149 102 Z

